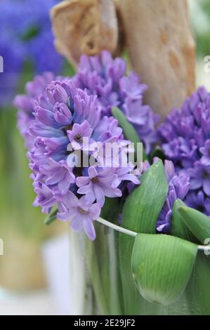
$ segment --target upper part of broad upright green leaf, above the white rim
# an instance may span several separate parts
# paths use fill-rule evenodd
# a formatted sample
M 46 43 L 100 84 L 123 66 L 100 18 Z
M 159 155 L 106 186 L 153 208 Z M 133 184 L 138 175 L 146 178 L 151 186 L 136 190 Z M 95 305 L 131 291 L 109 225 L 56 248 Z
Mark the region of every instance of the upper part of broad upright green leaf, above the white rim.
M 155 234 L 168 189 L 164 166 L 159 160 L 141 176 L 140 186 L 126 199 L 122 225 L 136 232 Z

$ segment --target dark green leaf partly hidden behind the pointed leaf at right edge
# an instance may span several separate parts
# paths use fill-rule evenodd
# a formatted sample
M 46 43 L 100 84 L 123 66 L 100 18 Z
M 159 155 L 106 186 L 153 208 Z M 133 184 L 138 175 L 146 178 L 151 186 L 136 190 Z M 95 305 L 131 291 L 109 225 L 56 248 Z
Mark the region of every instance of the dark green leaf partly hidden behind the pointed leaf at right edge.
M 178 209 L 186 204 L 181 199 L 176 199 L 173 203 L 172 217 L 171 217 L 171 235 L 186 239 L 187 241 L 197 243 L 197 239 L 192 235 L 187 225 L 185 225 Z

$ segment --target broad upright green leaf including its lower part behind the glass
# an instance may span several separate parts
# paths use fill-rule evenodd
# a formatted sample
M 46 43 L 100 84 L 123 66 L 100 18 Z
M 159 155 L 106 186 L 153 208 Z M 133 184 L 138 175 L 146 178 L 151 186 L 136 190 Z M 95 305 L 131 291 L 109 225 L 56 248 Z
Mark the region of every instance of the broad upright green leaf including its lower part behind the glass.
M 168 183 L 162 161 L 150 166 L 140 178 L 141 184 L 126 199 L 122 211 L 122 227 L 134 232 L 155 233 L 159 212 L 162 209 Z M 158 305 L 151 305 L 139 294 L 131 272 L 131 254 L 134 238 L 119 234 L 119 263 L 122 276 L 125 315 L 152 315 L 161 313 Z

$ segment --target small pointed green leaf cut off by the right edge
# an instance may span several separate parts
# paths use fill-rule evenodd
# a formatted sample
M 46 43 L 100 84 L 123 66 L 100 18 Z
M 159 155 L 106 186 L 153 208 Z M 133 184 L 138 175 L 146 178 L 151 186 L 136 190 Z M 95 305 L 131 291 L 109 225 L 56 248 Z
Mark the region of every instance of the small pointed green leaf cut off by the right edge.
M 210 238 L 210 218 L 187 206 L 181 206 L 178 212 L 192 234 L 205 244 L 205 239 Z

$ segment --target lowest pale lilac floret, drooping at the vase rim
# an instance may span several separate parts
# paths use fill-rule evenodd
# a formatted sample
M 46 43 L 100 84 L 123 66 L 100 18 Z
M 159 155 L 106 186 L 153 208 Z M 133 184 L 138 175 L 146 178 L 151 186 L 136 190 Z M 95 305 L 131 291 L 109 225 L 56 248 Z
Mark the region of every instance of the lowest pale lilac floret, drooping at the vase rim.
M 69 221 L 73 230 L 76 232 L 84 230 L 89 239 L 94 240 L 96 231 L 93 220 L 97 220 L 100 216 L 100 205 L 89 203 L 85 196 L 78 199 L 72 192 L 68 192 L 63 197 L 63 205 L 66 209 L 58 213 L 58 219 Z

